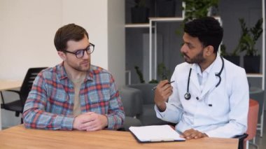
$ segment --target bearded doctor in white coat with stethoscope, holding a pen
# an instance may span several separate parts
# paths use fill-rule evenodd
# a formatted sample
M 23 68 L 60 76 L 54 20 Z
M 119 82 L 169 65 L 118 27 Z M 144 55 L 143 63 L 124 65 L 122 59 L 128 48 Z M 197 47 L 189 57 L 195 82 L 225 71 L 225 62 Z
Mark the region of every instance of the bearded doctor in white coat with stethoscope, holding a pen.
M 247 129 L 246 72 L 217 54 L 223 28 L 213 17 L 187 22 L 181 52 L 186 62 L 176 66 L 170 84 L 155 90 L 158 118 L 177 123 L 186 139 L 231 138 Z

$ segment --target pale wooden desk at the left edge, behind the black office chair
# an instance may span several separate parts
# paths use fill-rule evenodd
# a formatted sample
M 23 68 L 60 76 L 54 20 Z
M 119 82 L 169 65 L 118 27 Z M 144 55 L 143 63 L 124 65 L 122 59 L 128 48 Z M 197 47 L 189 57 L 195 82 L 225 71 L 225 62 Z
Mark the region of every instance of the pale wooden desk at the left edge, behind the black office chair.
M 22 81 L 21 80 L 0 80 L 0 92 L 2 90 L 10 90 L 13 88 L 21 87 Z M 1 97 L 0 97 L 0 104 L 1 104 Z M 2 122 L 1 122 L 1 110 L 0 110 L 0 130 L 2 129 Z

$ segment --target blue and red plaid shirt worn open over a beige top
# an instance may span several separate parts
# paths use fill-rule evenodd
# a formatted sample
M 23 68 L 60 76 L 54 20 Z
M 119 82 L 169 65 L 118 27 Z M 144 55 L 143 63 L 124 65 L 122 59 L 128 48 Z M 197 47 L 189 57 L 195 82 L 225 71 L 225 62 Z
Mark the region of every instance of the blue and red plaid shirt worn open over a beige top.
M 25 127 L 38 129 L 73 129 L 74 87 L 63 63 L 38 73 L 25 103 Z M 123 125 L 125 112 L 113 76 L 91 65 L 80 87 L 81 113 L 106 115 L 108 129 Z

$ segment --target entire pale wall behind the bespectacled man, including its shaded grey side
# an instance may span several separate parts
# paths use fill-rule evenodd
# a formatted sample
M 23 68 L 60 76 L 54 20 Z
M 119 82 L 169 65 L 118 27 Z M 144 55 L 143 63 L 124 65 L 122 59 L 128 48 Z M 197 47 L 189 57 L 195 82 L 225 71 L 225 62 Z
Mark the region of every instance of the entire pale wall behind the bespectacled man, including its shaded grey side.
M 123 0 L 0 0 L 0 79 L 22 80 L 29 67 L 60 63 L 53 44 L 55 32 L 75 23 L 88 31 L 96 45 L 92 64 L 108 69 L 117 85 L 124 85 L 124 14 Z M 14 113 L 3 113 L 2 122 L 10 125 L 7 121 Z

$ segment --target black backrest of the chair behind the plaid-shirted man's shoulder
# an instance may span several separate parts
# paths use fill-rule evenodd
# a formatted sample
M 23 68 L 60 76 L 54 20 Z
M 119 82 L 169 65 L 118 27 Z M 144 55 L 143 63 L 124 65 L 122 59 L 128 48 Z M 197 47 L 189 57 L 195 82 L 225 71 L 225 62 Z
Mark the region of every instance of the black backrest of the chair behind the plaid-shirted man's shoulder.
M 29 95 L 29 91 L 31 91 L 32 84 L 41 70 L 47 69 L 47 67 L 38 67 L 38 68 L 29 68 L 27 74 L 23 80 L 22 86 L 20 87 L 20 100 L 22 101 L 22 105 L 24 106 L 25 101 Z

